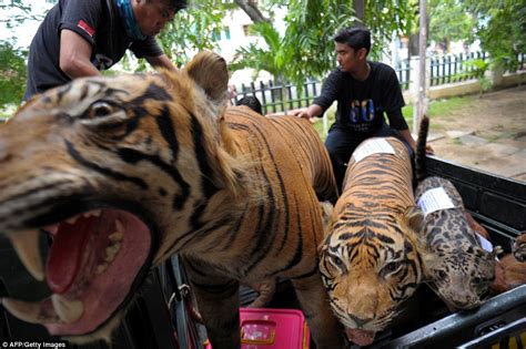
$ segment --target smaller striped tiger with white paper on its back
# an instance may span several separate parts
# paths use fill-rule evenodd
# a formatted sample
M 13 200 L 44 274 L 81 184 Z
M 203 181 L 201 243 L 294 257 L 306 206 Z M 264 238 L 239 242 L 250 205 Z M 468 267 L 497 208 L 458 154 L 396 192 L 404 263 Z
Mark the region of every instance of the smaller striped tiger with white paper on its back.
M 367 152 L 368 148 L 380 152 Z M 360 155 L 360 156 L 358 156 Z M 320 248 L 331 308 L 347 338 L 374 341 L 421 284 L 409 152 L 395 137 L 370 138 L 353 153 Z

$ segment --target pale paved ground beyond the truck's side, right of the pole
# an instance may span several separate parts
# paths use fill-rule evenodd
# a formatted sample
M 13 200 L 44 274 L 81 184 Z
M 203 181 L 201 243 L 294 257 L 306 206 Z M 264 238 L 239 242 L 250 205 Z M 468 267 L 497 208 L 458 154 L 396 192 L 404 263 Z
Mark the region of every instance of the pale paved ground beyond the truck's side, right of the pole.
M 526 183 L 526 85 L 469 101 L 431 117 L 428 144 L 435 155 Z

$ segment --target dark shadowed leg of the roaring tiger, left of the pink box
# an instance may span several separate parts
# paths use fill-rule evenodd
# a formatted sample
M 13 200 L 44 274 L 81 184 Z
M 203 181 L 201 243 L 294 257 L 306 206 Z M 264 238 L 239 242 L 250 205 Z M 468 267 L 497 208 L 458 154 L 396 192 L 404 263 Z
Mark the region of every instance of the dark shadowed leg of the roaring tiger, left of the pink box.
M 240 348 L 240 283 L 209 274 L 210 265 L 190 258 L 183 260 L 212 347 Z

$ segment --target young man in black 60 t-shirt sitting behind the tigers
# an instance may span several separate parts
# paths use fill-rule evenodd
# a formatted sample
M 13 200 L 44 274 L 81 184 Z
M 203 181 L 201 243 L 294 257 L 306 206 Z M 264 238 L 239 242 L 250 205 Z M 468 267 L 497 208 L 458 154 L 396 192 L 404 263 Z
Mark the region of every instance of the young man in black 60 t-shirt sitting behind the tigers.
M 336 120 L 325 146 L 331 155 L 338 189 L 346 163 L 360 143 L 375 136 L 395 136 L 412 154 L 416 146 L 402 115 L 405 105 L 398 78 L 387 64 L 367 60 L 371 32 L 366 28 L 343 29 L 334 37 L 340 64 L 324 81 L 321 94 L 295 115 L 305 119 L 322 115 L 337 101 Z M 388 124 L 384 114 L 387 114 Z M 428 152 L 433 152 L 428 148 Z

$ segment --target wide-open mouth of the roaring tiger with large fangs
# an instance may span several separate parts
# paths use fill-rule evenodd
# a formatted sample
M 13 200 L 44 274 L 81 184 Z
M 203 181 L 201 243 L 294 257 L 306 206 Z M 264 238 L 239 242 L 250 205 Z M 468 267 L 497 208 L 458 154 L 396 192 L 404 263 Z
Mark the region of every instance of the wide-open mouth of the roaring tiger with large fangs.
M 30 274 L 45 279 L 52 295 L 40 302 L 1 301 L 13 316 L 41 324 L 51 335 L 90 333 L 112 318 L 142 281 L 150 266 L 150 229 L 118 209 L 90 211 L 42 229 L 52 237 L 45 268 L 38 250 L 39 229 L 8 236 Z

